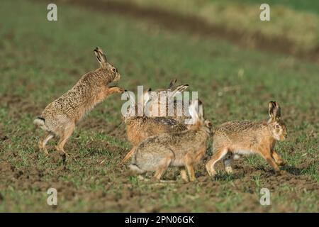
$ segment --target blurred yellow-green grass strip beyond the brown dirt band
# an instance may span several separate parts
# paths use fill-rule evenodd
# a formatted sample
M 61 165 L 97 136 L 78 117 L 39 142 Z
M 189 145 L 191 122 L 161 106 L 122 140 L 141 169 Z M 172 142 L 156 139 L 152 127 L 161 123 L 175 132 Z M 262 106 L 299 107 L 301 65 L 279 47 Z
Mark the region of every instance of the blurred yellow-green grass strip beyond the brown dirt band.
M 247 45 L 254 42 L 254 34 L 269 38 L 285 38 L 292 42 L 293 52 L 315 52 L 319 43 L 318 2 L 316 1 L 179 1 L 179 0 L 122 0 L 143 7 L 157 7 L 182 15 L 203 19 L 225 31 L 244 33 Z M 270 21 L 260 21 L 259 6 L 268 3 Z

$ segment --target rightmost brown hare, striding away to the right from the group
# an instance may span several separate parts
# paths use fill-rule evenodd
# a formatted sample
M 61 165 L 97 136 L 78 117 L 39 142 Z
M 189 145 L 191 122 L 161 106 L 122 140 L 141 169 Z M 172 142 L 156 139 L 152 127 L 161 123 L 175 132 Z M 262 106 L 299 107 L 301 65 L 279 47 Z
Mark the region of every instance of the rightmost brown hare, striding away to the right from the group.
M 223 160 L 225 171 L 233 172 L 231 162 L 241 155 L 258 154 L 280 172 L 278 165 L 285 162 L 274 150 L 276 140 L 287 137 L 286 125 L 281 120 L 281 109 L 276 101 L 269 102 L 268 121 L 229 121 L 223 123 L 213 135 L 213 157 L 206 164 L 208 174 L 216 175 L 215 164 Z

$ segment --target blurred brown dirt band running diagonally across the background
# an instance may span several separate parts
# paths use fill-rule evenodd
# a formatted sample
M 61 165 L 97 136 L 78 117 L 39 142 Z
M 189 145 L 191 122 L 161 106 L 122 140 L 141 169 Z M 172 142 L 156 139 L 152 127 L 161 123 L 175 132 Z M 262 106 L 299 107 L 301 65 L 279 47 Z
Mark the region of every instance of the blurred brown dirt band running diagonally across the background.
M 196 16 L 183 16 L 163 9 L 145 8 L 131 2 L 101 0 L 67 0 L 66 2 L 85 7 L 85 9 L 119 13 L 144 21 L 151 21 L 152 23 L 157 23 L 171 31 L 186 31 L 187 33 L 194 35 L 229 40 L 230 42 L 245 48 L 257 48 L 264 51 L 281 52 L 302 59 L 319 60 L 319 47 L 307 52 L 296 52 L 296 44 L 284 36 L 269 38 L 262 33 L 247 33 L 244 31 L 230 30 L 224 26 L 208 23 Z

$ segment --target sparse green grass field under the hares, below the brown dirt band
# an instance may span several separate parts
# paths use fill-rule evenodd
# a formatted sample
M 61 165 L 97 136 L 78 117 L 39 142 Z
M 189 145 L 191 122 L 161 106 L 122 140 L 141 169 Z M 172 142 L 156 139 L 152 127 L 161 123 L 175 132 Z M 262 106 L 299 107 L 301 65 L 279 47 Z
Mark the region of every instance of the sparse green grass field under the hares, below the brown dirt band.
M 47 4 L 1 1 L 1 212 L 319 211 L 318 62 L 174 32 L 123 13 L 57 7 L 58 21 L 49 22 Z M 267 119 L 268 101 L 278 101 L 289 133 L 276 145 L 288 162 L 286 173 L 275 175 L 261 158 L 246 157 L 235 162 L 234 175 L 211 179 L 204 170 L 208 148 L 196 182 L 182 182 L 175 169 L 164 176 L 174 183 L 145 182 L 119 165 L 130 149 L 119 95 L 79 123 L 65 146 L 66 162 L 54 151 L 55 141 L 49 157 L 40 153 L 42 133 L 33 118 L 98 67 L 96 46 L 118 68 L 125 89 L 167 87 L 172 78 L 190 84 L 213 126 Z M 57 206 L 47 205 L 51 187 Z M 270 206 L 259 204 L 262 188 L 271 192 Z

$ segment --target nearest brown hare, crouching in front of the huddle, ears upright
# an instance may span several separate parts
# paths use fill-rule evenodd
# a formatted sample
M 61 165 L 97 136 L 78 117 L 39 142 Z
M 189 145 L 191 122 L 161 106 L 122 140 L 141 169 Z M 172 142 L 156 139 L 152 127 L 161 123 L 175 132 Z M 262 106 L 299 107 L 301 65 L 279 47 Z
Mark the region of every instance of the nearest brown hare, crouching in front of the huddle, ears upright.
M 167 167 L 180 167 L 181 178 L 194 181 L 194 164 L 206 153 L 211 122 L 204 120 L 203 105 L 198 101 L 192 102 L 189 113 L 194 120 L 189 129 L 178 133 L 162 133 L 143 140 L 135 149 L 130 169 L 140 174 L 155 171 L 154 177 L 160 179 Z

